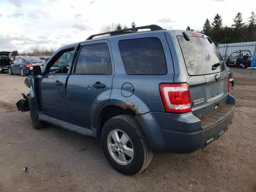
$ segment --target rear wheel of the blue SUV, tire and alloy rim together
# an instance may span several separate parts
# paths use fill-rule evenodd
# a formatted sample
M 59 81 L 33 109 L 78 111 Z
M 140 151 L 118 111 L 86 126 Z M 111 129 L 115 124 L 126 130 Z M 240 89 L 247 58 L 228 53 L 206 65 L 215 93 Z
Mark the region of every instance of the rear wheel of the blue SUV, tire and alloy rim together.
M 101 132 L 102 148 L 108 162 L 118 172 L 135 175 L 146 169 L 153 153 L 130 115 L 119 115 L 108 120 Z

